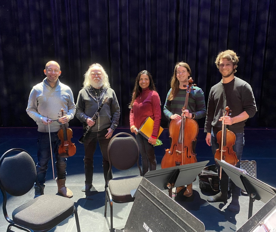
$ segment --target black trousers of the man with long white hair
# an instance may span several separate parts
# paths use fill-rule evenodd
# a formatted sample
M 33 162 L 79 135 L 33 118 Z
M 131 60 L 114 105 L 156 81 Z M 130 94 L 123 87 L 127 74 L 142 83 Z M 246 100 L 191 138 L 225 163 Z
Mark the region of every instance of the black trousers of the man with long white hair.
M 107 157 L 107 146 L 111 138 L 106 139 L 105 135 L 107 130 L 101 130 L 98 132 L 87 132 L 84 139 L 84 171 L 85 171 L 85 184 L 91 185 L 93 180 L 93 155 L 95 153 L 97 142 L 99 142 L 100 149 L 102 152 L 102 167 L 105 177 L 105 183 L 107 184 L 107 174 L 109 170 L 109 162 Z M 112 171 L 110 173 L 110 179 L 112 179 Z

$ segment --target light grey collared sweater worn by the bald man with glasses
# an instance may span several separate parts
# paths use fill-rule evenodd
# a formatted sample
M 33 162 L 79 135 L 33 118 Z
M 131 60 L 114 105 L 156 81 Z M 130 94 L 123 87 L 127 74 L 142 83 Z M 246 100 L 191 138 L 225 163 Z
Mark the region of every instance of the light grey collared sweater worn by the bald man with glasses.
M 69 120 L 73 119 L 76 107 L 71 89 L 62 84 L 59 79 L 55 87 L 51 87 L 45 78 L 43 82 L 35 85 L 31 90 L 28 107 L 28 115 L 38 125 L 39 132 L 49 132 L 48 125 L 41 122 L 43 117 L 49 117 L 51 120 L 58 119 L 61 108 L 67 112 Z M 68 127 L 68 123 L 65 123 Z M 61 128 L 61 123 L 52 122 L 50 132 L 57 132 Z

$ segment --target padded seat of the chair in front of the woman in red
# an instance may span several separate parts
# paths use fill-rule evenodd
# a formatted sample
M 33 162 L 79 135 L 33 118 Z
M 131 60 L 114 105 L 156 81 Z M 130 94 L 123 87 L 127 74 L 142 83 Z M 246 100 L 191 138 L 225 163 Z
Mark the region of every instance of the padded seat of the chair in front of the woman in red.
M 142 176 L 131 178 L 128 176 L 110 180 L 108 187 L 112 195 L 112 200 L 115 203 L 134 201 L 135 198 L 132 198 L 130 191 L 137 189 L 142 179 Z

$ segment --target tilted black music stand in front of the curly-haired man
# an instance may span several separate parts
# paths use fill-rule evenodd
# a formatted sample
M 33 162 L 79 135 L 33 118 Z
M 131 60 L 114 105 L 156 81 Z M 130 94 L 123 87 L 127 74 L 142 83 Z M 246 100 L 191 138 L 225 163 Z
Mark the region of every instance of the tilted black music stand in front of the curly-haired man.
M 276 195 L 275 188 L 247 174 L 244 170 L 236 168 L 226 162 L 222 162 L 221 160 L 215 160 L 222 167 L 229 178 L 235 183 L 235 185 L 248 193 L 248 219 L 252 217 L 253 202 L 255 200 L 261 200 L 263 203 L 267 203 Z

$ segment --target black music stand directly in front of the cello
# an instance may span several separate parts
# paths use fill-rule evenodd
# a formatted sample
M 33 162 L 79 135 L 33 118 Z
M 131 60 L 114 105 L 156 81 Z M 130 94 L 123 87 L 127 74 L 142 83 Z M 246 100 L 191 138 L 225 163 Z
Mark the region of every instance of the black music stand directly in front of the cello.
M 144 178 L 161 190 L 169 189 L 169 196 L 172 197 L 172 188 L 192 183 L 207 163 L 209 160 L 149 171 Z

